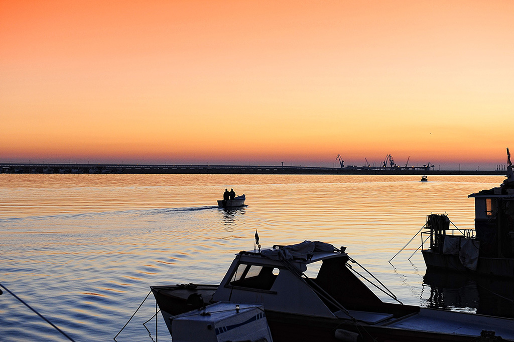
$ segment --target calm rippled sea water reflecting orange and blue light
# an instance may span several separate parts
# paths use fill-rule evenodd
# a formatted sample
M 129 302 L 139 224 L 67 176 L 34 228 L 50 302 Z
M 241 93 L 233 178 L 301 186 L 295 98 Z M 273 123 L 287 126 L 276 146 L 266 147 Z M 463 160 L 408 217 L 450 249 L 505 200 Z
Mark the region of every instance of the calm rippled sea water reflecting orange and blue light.
M 253 249 L 258 230 L 263 246 L 304 240 L 346 246 L 405 304 L 513 315 L 505 304 L 511 285 L 426 275 L 421 253 L 414 253 L 420 237 L 388 262 L 430 213 L 448 213 L 457 227 L 473 228 L 467 195 L 504 177 L 419 179 L 0 174 L 0 282 L 74 340 L 113 340 L 150 285 L 219 283 L 233 255 Z M 218 209 L 227 187 L 245 193 L 247 206 Z M 152 319 L 155 311 L 150 296 L 116 340 L 170 341 L 160 314 Z M 4 292 L 0 340 L 67 339 Z

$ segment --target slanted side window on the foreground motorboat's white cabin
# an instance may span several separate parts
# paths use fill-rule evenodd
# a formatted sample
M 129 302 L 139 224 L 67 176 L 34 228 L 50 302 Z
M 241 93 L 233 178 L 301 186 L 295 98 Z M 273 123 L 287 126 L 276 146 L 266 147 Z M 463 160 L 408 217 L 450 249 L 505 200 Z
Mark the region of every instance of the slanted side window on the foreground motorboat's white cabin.
M 230 280 L 230 286 L 269 291 L 279 272 L 276 267 L 239 264 Z

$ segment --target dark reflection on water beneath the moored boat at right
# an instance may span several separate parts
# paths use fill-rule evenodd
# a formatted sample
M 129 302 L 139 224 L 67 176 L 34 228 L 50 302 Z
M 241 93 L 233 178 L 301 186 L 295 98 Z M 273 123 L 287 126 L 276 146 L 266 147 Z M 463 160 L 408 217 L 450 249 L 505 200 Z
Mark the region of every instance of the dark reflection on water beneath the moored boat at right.
M 512 279 L 427 269 L 423 283 L 430 291 L 428 308 L 514 318 Z

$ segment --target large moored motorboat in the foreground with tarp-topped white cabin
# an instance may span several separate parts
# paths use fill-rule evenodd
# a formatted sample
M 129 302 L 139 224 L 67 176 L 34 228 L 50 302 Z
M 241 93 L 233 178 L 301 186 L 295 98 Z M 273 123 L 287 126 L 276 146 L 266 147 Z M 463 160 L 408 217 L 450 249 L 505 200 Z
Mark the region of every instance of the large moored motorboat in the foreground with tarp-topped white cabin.
M 237 253 L 219 285 L 150 288 L 174 340 L 175 319 L 186 312 L 201 315 L 207 305 L 223 302 L 231 310 L 243 303 L 262 305 L 274 342 L 514 341 L 514 319 L 402 304 L 345 249 L 319 241 L 262 250 L 259 245 Z M 372 282 L 368 276 L 399 303 L 377 297 L 360 279 Z

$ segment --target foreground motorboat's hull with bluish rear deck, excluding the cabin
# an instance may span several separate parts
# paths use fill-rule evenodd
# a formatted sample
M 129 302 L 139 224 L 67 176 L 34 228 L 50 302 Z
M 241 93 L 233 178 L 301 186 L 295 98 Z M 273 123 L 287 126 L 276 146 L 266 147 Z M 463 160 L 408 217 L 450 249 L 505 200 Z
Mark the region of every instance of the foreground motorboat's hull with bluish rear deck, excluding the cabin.
M 209 305 L 213 302 L 211 298 L 217 285 L 190 285 L 192 284 L 151 286 L 162 317 L 170 332 L 173 316 L 196 309 L 192 309 L 194 306 L 188 304 L 188 297 L 199 293 L 203 299 L 201 305 Z M 398 308 L 406 307 L 406 309 L 409 309 L 408 305 L 394 305 L 397 305 Z M 355 323 L 345 318 L 316 317 L 271 310 L 265 310 L 265 312 L 274 342 L 339 341 L 335 333 L 337 329 L 358 333 L 360 340 L 370 342 L 481 341 L 480 333 L 482 330 L 495 330 L 497 331 L 496 336 L 503 335 L 503 340 L 514 341 L 514 335 L 510 331 L 502 331 L 502 327 L 508 329 L 513 325 L 514 321 L 512 319 L 435 309 L 421 308 L 418 310 L 398 317 L 393 322 L 388 322 L 387 325 L 382 325 L 382 323 L 369 325 L 361 321 Z M 463 334 L 460 334 L 459 331 L 463 331 Z M 484 340 L 494 341 L 494 339 Z

